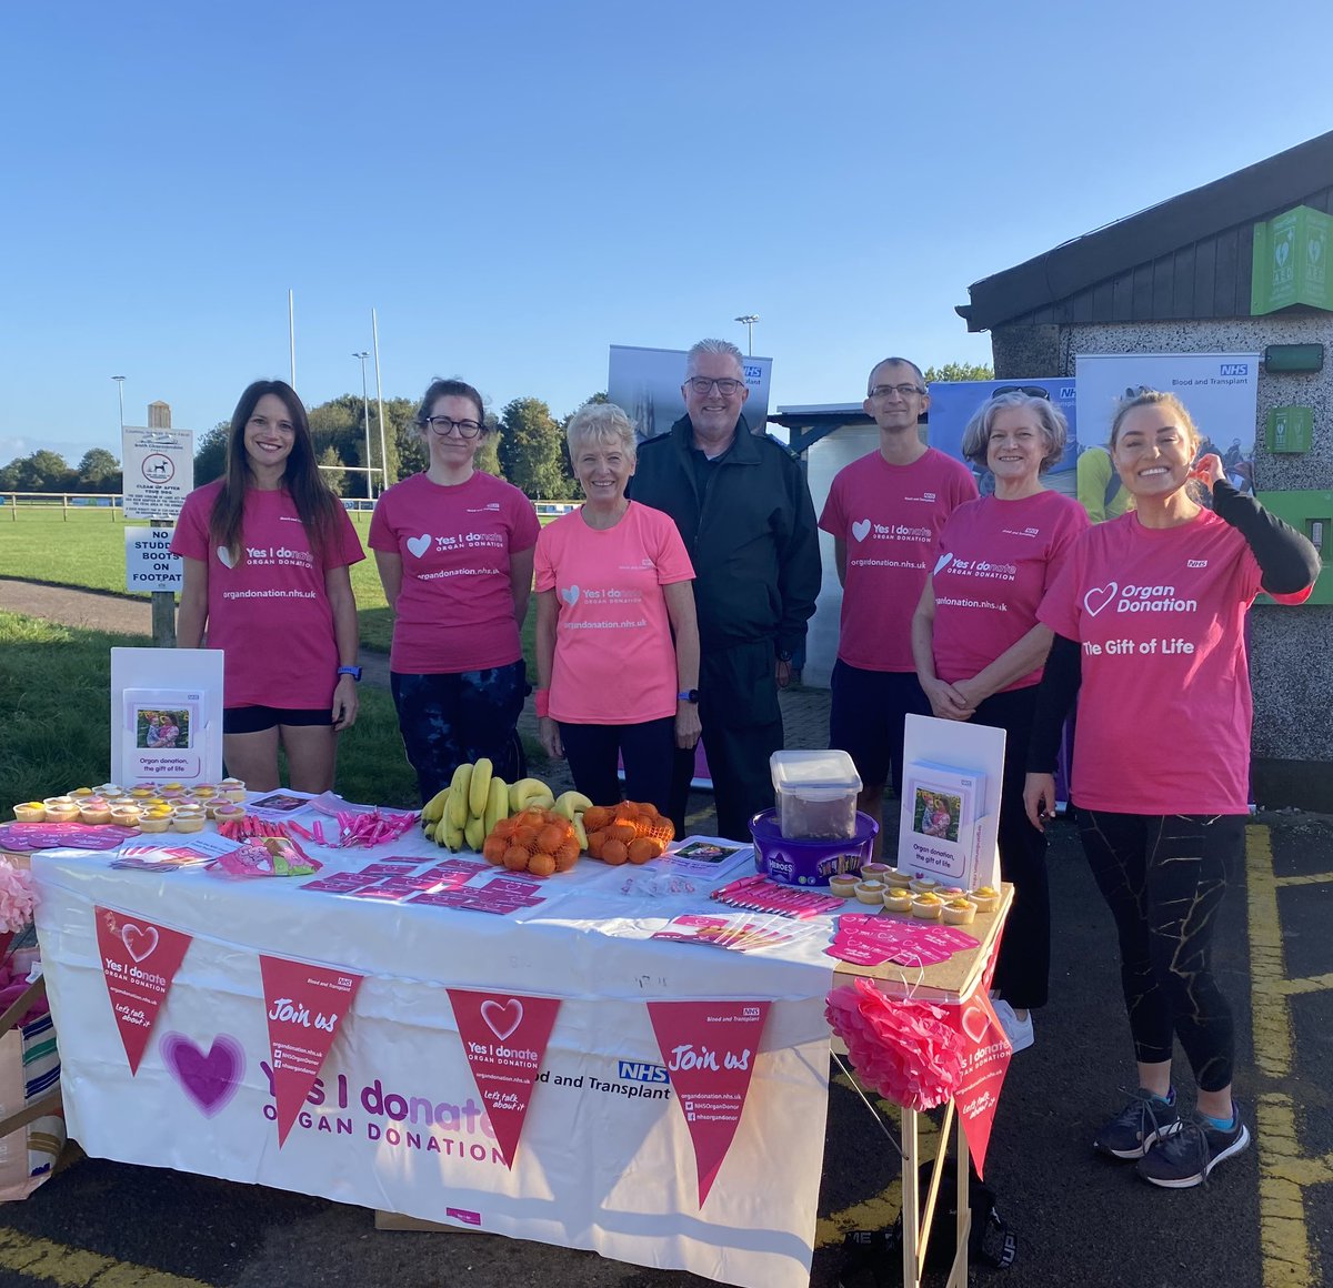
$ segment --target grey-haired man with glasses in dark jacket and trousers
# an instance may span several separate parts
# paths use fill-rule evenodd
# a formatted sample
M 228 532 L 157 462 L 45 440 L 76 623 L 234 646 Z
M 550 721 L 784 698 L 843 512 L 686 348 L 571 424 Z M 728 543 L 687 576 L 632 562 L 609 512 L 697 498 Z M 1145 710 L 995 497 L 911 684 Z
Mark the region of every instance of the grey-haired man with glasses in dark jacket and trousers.
M 701 340 L 685 364 L 686 414 L 643 444 L 636 501 L 664 510 L 694 565 L 701 649 L 698 702 L 717 830 L 749 839 L 752 814 L 773 803 L 768 758 L 782 746 L 778 687 L 820 590 L 814 506 L 800 464 L 750 433 L 744 358 Z M 670 816 L 684 828 L 693 753 L 676 757 Z

